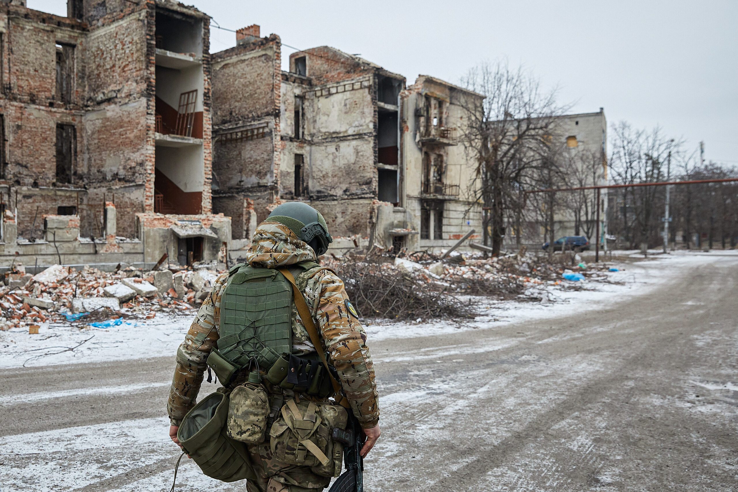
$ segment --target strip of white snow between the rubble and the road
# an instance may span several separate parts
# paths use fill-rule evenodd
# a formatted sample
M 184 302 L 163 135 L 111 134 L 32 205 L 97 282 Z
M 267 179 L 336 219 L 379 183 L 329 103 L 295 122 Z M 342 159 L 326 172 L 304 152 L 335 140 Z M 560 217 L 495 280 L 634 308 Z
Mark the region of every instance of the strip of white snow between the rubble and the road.
M 632 253 L 633 256 L 636 252 Z M 707 264 L 738 251 L 711 253 L 676 252 L 652 256 L 648 261 L 615 263 L 619 272 L 606 273 L 617 284 L 584 282 L 584 290 L 565 291 L 549 287 L 551 302 L 487 301 L 483 314 L 463 324 L 448 321 L 365 323 L 370 341 L 389 338 L 444 335 L 468 329 L 491 329 L 531 319 L 579 315 L 633 295 L 642 295 L 679 275 L 684 267 Z M 191 316 L 157 315 L 145 321 L 126 321 L 106 329 L 43 324 L 38 335 L 25 329 L 0 332 L 0 368 L 48 366 L 53 364 L 107 362 L 174 355 L 192 321 Z

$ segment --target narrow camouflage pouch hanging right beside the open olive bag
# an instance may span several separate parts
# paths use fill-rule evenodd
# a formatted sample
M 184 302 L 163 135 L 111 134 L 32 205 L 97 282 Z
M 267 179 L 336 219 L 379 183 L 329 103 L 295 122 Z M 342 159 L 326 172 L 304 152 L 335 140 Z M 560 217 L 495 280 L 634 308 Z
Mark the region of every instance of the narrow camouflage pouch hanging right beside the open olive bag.
M 230 394 L 228 437 L 246 444 L 263 443 L 268 416 L 269 397 L 261 384 L 236 386 Z

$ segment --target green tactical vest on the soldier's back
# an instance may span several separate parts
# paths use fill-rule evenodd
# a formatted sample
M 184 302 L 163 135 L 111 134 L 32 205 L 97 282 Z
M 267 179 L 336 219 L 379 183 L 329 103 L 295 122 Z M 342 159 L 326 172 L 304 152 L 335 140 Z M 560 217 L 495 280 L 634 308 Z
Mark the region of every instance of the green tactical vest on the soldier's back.
M 315 262 L 289 266 L 304 289 Z M 226 386 L 235 374 L 256 361 L 269 369 L 283 354 L 292 354 L 292 284 L 278 270 L 241 263 L 228 271 L 221 297 L 220 337 L 207 363 Z

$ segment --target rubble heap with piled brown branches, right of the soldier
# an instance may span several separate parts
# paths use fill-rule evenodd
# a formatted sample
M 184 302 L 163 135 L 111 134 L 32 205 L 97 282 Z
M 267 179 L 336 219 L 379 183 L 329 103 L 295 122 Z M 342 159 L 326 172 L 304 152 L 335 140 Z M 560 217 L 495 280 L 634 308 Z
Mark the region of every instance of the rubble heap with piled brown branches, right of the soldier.
M 548 262 L 545 255 L 525 252 L 487 259 L 458 253 L 445 259 L 424 252 L 406 258 L 349 254 L 324 264 L 339 273 L 349 297 L 371 318 L 464 318 L 480 297 L 548 302 L 550 287 L 579 290 L 580 280 L 609 281 L 601 274 L 608 265 L 588 266 L 579 255 Z

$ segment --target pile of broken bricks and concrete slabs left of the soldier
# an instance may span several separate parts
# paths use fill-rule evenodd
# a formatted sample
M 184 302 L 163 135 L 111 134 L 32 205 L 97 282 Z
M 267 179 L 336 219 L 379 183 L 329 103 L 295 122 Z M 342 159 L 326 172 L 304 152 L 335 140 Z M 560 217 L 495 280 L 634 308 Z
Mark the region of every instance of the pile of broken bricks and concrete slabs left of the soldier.
M 0 288 L 0 329 L 32 329 L 46 321 L 154 318 L 156 312 L 190 314 L 210 293 L 221 273 L 213 269 L 218 266 L 224 267 L 145 271 L 119 265 L 110 273 L 55 264 L 31 276 L 16 265 Z

